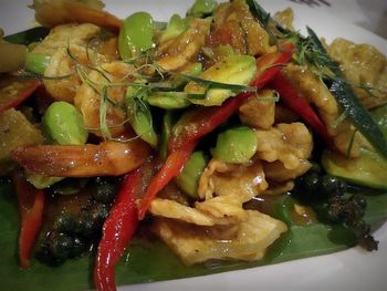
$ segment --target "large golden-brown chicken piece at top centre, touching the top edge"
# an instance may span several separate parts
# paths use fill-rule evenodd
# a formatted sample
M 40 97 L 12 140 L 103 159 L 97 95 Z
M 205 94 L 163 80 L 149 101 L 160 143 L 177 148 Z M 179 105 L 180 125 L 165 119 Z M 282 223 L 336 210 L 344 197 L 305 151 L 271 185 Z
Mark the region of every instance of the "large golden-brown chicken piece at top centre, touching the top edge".
M 230 44 L 241 54 L 262 55 L 276 50 L 268 32 L 250 12 L 244 0 L 222 3 L 213 14 L 210 45 Z

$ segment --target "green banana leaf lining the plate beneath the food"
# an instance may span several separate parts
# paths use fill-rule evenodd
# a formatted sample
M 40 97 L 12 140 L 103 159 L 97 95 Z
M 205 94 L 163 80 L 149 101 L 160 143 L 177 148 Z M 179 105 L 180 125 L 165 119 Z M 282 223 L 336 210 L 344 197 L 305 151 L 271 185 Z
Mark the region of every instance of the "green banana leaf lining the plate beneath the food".
M 367 196 L 365 219 L 373 229 L 387 219 L 387 195 Z M 294 224 L 291 209 L 295 200 L 279 197 L 272 207 L 272 216 L 285 221 L 290 230 L 270 248 L 265 258 L 257 262 L 211 262 L 184 266 L 160 241 L 136 237 L 116 268 L 118 284 L 142 283 L 158 280 L 188 278 L 217 272 L 280 263 L 305 257 L 332 253 L 355 245 L 354 237 L 341 226 L 322 222 Z M 60 267 L 49 267 L 33 259 L 29 270 L 18 267 L 19 214 L 12 185 L 0 181 L 0 285 L 2 290 L 74 291 L 93 288 L 94 253 L 66 261 Z M 128 256 L 129 254 L 129 256 Z

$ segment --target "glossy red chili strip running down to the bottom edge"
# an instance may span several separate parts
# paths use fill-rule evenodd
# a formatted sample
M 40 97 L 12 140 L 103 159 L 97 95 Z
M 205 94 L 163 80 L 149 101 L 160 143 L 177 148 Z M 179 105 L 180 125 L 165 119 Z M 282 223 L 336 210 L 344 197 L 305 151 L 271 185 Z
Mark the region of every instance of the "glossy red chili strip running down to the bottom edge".
M 125 176 L 111 212 L 103 226 L 94 267 L 94 283 L 98 291 L 116 290 L 115 266 L 138 226 L 136 190 L 142 183 L 142 168 Z

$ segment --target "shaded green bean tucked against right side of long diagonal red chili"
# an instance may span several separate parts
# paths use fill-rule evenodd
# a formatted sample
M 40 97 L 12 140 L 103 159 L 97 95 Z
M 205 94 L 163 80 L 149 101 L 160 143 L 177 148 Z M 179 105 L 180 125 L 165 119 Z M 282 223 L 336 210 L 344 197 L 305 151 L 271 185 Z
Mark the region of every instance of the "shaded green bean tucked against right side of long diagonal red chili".
M 177 186 L 192 198 L 199 198 L 198 184 L 208 164 L 208 158 L 201 150 L 195 152 L 184 166 L 181 174 L 175 179 Z

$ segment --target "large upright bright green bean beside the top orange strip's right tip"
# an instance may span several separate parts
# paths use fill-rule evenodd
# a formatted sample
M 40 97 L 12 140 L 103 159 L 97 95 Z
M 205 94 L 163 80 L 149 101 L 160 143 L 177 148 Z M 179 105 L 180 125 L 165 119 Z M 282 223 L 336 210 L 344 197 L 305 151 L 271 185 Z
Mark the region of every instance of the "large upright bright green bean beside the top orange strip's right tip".
M 154 46 L 154 21 L 147 12 L 136 12 L 124 21 L 118 51 L 123 60 L 140 55 Z

